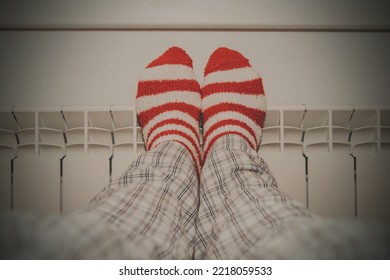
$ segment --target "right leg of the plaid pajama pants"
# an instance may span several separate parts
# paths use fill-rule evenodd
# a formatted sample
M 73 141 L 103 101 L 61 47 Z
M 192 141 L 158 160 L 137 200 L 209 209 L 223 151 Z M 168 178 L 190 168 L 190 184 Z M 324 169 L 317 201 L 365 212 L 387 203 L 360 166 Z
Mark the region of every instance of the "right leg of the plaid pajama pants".
M 312 215 L 237 135 L 218 139 L 202 169 L 196 258 L 386 258 L 388 238 L 375 223 Z

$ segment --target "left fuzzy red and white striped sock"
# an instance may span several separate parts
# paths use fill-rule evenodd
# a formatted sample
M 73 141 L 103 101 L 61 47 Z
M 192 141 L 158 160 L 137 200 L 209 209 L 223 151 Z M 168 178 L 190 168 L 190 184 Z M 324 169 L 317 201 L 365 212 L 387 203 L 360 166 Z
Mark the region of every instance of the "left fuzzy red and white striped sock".
M 140 77 L 136 97 L 146 150 L 176 141 L 188 150 L 199 173 L 200 105 L 200 85 L 184 50 L 172 47 L 152 61 Z

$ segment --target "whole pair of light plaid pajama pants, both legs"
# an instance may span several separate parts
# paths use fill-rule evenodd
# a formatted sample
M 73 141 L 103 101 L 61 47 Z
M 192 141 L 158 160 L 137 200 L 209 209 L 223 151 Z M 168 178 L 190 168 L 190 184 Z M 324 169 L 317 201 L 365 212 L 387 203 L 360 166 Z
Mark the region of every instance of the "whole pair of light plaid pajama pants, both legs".
M 390 257 L 385 227 L 312 215 L 278 190 L 266 163 L 236 135 L 214 144 L 200 188 L 186 149 L 165 142 L 139 156 L 84 209 L 1 221 L 3 258 Z

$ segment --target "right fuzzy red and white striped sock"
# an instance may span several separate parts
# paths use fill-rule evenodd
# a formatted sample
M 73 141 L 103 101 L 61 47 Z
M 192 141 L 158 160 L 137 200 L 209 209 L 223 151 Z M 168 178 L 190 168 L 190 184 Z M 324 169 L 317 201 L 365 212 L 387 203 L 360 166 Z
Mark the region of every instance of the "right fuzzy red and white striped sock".
M 226 134 L 240 135 L 257 150 L 266 113 L 259 74 L 241 53 L 218 48 L 210 56 L 204 75 L 204 160 L 215 141 Z

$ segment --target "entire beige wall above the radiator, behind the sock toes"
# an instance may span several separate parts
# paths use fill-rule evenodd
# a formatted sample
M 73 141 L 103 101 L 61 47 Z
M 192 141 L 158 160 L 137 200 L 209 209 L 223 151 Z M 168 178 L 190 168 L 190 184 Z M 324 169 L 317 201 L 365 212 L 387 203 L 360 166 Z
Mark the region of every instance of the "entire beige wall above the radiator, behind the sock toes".
M 140 72 L 172 45 L 192 56 L 200 81 L 215 48 L 241 51 L 263 76 L 269 104 L 388 105 L 389 9 L 372 3 L 2 1 L 0 106 L 132 105 Z M 182 30 L 162 30 L 172 27 Z

